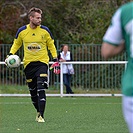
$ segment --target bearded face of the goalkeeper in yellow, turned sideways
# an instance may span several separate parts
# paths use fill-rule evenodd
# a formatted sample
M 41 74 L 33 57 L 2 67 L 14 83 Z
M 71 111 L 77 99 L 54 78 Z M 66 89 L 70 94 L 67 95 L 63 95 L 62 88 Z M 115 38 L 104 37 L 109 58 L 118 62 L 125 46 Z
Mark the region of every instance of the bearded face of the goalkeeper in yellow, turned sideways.
M 40 13 L 35 12 L 34 16 L 30 17 L 30 22 L 34 26 L 39 26 L 41 24 L 41 21 L 42 21 L 42 16 Z

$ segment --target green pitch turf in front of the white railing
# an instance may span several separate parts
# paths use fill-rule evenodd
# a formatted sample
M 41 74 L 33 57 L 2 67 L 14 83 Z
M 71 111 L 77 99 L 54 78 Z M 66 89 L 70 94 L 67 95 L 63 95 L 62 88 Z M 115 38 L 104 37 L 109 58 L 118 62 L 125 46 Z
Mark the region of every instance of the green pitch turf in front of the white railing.
M 128 133 L 120 97 L 47 97 L 45 123 L 29 97 L 0 97 L 0 133 Z

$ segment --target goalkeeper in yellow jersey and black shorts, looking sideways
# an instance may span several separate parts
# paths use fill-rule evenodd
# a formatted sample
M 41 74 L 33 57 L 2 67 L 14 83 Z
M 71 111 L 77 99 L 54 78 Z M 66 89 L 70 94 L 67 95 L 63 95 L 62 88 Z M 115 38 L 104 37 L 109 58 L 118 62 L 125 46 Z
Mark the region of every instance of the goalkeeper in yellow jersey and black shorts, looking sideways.
M 29 24 L 18 29 L 10 54 L 15 54 L 24 46 L 24 72 L 31 94 L 32 103 L 37 111 L 36 121 L 45 122 L 44 111 L 46 106 L 45 89 L 48 89 L 48 63 L 50 50 L 54 61 L 57 61 L 57 52 L 50 30 L 41 25 L 42 10 L 31 8 L 28 12 Z

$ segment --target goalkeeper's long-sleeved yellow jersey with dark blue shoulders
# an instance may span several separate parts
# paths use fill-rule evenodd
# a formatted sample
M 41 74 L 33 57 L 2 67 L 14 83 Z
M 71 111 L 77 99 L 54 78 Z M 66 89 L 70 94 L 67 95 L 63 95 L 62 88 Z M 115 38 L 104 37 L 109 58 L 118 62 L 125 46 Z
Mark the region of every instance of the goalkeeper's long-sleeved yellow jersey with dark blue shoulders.
M 48 50 L 53 58 L 57 58 L 54 39 L 46 26 L 40 25 L 36 29 L 31 29 L 28 24 L 19 28 L 10 53 L 15 54 L 22 45 L 24 46 L 24 68 L 35 61 L 48 64 Z

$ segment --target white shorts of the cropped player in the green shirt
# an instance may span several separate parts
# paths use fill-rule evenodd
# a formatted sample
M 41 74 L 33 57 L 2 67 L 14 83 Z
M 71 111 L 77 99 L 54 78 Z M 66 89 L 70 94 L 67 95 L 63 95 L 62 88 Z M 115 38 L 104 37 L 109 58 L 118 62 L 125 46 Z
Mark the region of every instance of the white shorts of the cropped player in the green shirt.
M 133 97 L 123 96 L 122 109 L 130 133 L 133 133 Z

